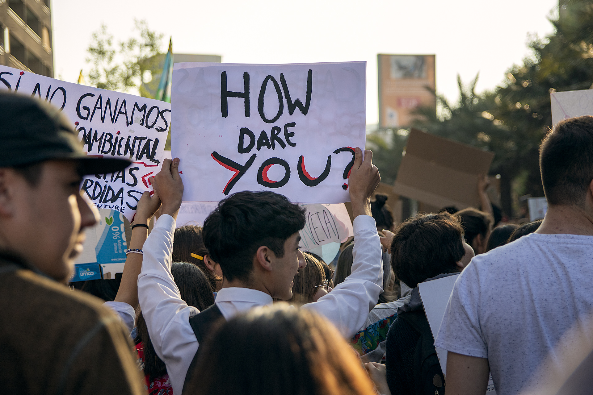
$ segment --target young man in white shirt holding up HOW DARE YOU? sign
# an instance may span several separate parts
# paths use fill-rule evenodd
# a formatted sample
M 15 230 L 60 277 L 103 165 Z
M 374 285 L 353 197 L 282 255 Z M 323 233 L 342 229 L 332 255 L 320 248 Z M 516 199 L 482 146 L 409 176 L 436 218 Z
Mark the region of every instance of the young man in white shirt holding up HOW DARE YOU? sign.
M 155 351 L 167 365 L 173 390 L 181 394 L 199 347 L 194 325 L 202 315 L 181 300 L 170 272 L 175 218 L 183 195 L 178 163 L 177 158 L 173 163 L 165 159 L 155 176 L 162 215 L 145 243 L 138 296 Z M 372 152 L 367 150 L 363 161 L 362 150 L 356 148 L 349 179 L 356 240 L 352 274 L 302 307 L 323 314 L 345 338 L 360 329 L 382 292 L 381 243 L 369 200 L 379 181 Z M 228 320 L 251 307 L 271 304 L 273 298 L 291 298 L 292 280 L 305 265 L 298 249 L 304 224 L 302 208 L 273 192 L 238 192 L 222 200 L 203 230 L 206 247 L 225 277 L 215 304 L 206 311 L 218 311 Z

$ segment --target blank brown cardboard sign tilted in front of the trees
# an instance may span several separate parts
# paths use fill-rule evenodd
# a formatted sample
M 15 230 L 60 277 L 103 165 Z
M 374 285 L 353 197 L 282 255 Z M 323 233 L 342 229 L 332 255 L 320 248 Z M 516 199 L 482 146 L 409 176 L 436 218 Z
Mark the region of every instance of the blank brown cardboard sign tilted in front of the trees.
M 435 207 L 479 207 L 478 175 L 494 153 L 412 129 L 393 191 Z

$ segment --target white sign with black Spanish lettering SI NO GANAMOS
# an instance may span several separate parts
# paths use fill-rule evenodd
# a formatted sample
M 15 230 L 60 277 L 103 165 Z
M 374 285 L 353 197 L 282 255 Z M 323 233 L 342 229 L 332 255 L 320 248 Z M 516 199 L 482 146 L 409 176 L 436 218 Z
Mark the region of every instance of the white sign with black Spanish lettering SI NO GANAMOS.
M 0 66 L 0 89 L 39 97 L 61 108 L 78 131 L 88 155 L 132 160 L 125 171 L 87 175 L 81 189 L 98 208 L 131 220 L 148 178 L 160 169 L 171 104 L 60 81 Z

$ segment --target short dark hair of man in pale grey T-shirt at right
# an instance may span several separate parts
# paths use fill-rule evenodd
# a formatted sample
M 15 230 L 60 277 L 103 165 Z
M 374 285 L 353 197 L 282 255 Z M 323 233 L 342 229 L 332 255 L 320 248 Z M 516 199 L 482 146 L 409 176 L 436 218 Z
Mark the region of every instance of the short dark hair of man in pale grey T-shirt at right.
M 541 183 L 548 204 L 585 203 L 593 179 L 593 117 L 562 120 L 540 145 Z

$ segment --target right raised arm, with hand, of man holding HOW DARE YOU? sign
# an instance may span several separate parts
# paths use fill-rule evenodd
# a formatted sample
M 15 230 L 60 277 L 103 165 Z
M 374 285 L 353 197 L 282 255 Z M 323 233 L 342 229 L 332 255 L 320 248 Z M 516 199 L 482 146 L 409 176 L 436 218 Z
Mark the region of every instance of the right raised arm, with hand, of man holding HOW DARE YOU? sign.
M 352 274 L 329 294 L 303 306 L 323 314 L 346 339 L 361 329 L 383 291 L 381 242 L 369 200 L 381 177 L 372 164 L 371 150 L 365 150 L 364 161 L 360 148 L 356 148 L 355 154 L 348 183 L 355 216 Z

